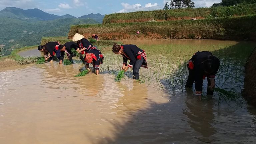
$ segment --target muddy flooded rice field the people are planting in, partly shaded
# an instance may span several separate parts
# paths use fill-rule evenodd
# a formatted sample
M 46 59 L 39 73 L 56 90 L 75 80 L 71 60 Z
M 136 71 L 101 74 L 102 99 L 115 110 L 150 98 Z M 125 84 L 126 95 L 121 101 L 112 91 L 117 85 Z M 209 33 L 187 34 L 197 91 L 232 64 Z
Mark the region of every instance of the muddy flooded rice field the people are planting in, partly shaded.
M 123 41 L 145 49 L 149 69 L 114 82 L 121 55 L 105 51 L 100 75 L 74 77 L 84 66 L 58 62 L 0 70 L 3 144 L 256 143 L 256 109 L 218 95 L 199 101 L 185 89 L 186 62 L 211 51 L 221 66 L 216 85 L 241 92 L 244 63 L 255 43 L 218 40 Z M 90 65 L 91 66 L 91 65 Z M 203 88 L 206 87 L 204 81 Z

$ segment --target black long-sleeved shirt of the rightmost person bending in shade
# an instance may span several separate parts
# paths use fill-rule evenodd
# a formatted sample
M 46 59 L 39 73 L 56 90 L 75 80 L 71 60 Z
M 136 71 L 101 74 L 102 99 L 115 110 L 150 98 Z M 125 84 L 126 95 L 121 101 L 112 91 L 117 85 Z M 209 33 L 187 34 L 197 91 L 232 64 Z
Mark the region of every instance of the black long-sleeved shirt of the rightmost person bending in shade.
M 205 60 L 211 59 L 214 61 L 214 71 L 210 74 L 206 74 L 203 69 L 203 62 Z M 195 55 L 192 56 L 190 61 L 194 64 L 194 71 L 195 71 L 195 88 L 196 91 L 202 91 L 203 87 L 203 76 L 206 75 L 208 79 L 215 79 L 215 74 L 218 72 L 220 66 L 220 60 L 213 56 L 209 51 L 202 51 L 197 52 Z

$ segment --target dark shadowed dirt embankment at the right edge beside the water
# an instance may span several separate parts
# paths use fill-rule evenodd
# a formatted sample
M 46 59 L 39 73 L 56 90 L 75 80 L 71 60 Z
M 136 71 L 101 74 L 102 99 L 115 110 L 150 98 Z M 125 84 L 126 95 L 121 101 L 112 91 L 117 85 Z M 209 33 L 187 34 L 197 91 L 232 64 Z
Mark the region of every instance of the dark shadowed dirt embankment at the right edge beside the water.
M 256 106 L 256 50 L 253 51 L 245 66 L 243 96 L 248 103 Z

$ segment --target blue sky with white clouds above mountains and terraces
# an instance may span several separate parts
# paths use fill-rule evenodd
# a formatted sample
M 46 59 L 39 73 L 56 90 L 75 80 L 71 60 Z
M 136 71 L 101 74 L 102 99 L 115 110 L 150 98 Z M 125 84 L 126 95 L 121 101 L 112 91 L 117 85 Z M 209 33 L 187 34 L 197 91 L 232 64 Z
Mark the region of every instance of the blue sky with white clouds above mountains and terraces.
M 102 15 L 117 12 L 163 9 L 168 0 L 0 0 L 0 10 L 5 7 L 21 9 L 39 8 L 44 12 L 80 17 L 90 13 Z M 210 7 L 221 0 L 192 0 L 195 7 Z

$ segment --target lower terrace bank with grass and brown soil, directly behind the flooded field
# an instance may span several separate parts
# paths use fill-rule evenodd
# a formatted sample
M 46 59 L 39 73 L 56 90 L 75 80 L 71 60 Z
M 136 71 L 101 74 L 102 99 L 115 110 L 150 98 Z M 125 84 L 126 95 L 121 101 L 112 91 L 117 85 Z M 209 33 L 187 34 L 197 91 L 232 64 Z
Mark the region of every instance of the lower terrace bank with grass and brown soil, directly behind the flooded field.
M 230 39 L 256 40 L 256 15 L 203 20 L 181 20 L 143 23 L 112 23 L 71 26 L 68 34 L 76 32 L 89 36 L 99 34 L 101 39 Z M 136 35 L 136 32 L 140 34 Z

